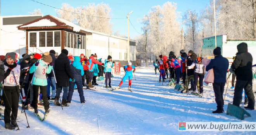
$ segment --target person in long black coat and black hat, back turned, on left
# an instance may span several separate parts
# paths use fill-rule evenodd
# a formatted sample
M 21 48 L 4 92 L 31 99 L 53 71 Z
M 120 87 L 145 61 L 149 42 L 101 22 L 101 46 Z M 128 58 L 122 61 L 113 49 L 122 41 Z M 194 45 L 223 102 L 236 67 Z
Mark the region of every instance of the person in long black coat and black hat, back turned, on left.
M 61 106 L 59 103 L 59 96 L 63 88 L 62 100 L 67 100 L 67 92 L 69 89 L 69 78 L 74 82 L 74 75 L 70 69 L 69 59 L 67 58 L 68 51 L 66 49 L 61 50 L 61 54 L 55 59 L 55 78 L 57 81 L 58 89 L 56 91 L 54 105 Z

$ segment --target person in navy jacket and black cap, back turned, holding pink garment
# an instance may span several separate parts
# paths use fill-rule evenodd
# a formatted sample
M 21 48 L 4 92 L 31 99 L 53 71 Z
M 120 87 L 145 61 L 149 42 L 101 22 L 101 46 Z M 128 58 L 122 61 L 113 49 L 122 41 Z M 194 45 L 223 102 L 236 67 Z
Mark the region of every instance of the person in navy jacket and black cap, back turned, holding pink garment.
M 228 71 L 228 59 L 221 55 L 220 47 L 216 47 L 216 49 L 213 50 L 213 54 L 215 58 L 211 59 L 211 62 L 208 64 L 208 66 L 206 66 L 206 71 L 213 69 L 214 73 L 213 90 L 215 101 L 217 103 L 217 110 L 213 111 L 213 113 L 223 113 L 223 92 L 225 83 L 227 81 L 226 76 Z

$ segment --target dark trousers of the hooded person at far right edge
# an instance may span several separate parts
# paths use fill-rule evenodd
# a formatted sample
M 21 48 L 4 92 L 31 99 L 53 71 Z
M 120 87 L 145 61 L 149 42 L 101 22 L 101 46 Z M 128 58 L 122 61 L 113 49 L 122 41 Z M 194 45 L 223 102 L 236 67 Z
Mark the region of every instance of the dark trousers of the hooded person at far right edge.
M 245 90 L 245 93 L 248 98 L 248 107 L 254 108 L 255 100 L 253 94 L 253 80 L 237 80 L 237 83 L 235 83 L 233 105 L 240 105 L 240 100 L 242 100 L 241 93 L 243 89 Z

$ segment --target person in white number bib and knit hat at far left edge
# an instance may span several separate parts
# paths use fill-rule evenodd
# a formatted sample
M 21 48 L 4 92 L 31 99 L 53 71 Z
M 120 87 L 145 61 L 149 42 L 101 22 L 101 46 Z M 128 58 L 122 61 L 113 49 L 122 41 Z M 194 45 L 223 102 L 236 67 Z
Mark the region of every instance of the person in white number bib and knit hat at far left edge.
M 10 52 L 6 56 L 6 61 L 0 64 L 0 82 L 3 81 L 3 103 L 5 128 L 13 130 L 18 127 L 16 123 L 19 107 L 19 78 L 25 76 L 25 72 L 16 64 L 16 53 Z M 16 81 L 15 81 L 16 80 Z M 11 114 L 12 113 L 12 114 Z

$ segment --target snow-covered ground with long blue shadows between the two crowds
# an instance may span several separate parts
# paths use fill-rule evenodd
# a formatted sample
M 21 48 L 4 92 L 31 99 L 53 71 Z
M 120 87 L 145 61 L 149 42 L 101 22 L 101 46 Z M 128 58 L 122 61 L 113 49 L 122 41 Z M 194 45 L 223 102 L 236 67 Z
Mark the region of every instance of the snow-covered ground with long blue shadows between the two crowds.
M 213 114 L 216 110 L 213 88 L 204 88 L 202 98 L 187 95 L 158 83 L 159 73 L 154 74 L 154 67 L 137 67 L 136 81 L 128 91 L 128 80 L 121 89 L 109 92 L 101 88 L 103 81 L 98 81 L 97 91 L 84 89 L 85 104 L 80 103 L 75 90 L 69 107 L 50 104 L 50 113 L 43 122 L 33 110 L 26 110 L 30 128 L 26 128 L 26 117 L 19 108 L 19 131 L 4 128 L 0 121 L 1 135 L 177 135 L 177 134 L 255 134 L 254 132 L 179 132 L 178 122 L 241 122 L 226 113 Z M 118 86 L 124 72 L 114 75 L 112 86 Z M 156 78 L 157 77 L 157 78 Z M 157 83 L 156 83 L 157 79 Z M 160 85 L 159 85 L 160 84 Z M 105 84 L 104 84 L 105 85 Z M 228 87 L 224 110 L 232 102 L 234 90 Z M 226 89 L 226 88 L 225 88 Z M 225 92 L 224 92 L 225 93 Z M 244 100 L 243 100 L 244 101 Z M 3 108 L 3 107 L 1 107 Z M 38 108 L 43 116 L 44 109 Z M 248 111 L 252 117 L 245 117 L 242 122 L 255 122 L 256 111 Z M 3 117 L 2 117 L 3 118 Z

